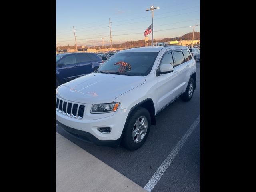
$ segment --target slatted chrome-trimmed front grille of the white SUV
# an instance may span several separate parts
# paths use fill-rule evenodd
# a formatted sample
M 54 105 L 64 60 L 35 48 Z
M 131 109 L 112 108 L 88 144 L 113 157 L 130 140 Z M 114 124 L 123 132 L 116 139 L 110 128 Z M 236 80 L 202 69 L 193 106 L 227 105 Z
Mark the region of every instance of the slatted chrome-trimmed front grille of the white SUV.
M 84 118 L 85 105 L 62 100 L 56 97 L 56 110 L 72 118 Z

